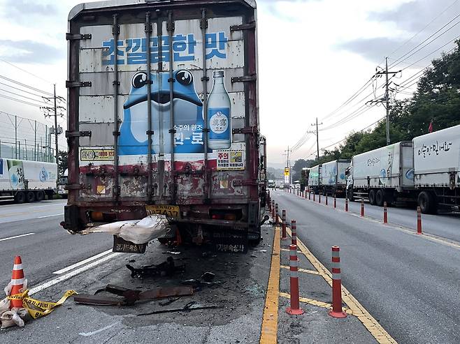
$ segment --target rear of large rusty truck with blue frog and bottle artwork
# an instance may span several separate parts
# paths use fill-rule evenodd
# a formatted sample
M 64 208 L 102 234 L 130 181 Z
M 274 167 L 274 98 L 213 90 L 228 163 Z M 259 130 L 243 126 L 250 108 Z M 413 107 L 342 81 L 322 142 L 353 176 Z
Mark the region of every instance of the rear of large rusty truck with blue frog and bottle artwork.
M 255 1 L 83 3 L 68 31 L 64 228 L 159 213 L 182 240 L 259 241 Z

